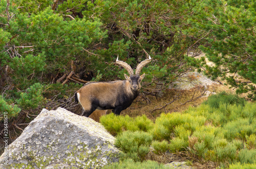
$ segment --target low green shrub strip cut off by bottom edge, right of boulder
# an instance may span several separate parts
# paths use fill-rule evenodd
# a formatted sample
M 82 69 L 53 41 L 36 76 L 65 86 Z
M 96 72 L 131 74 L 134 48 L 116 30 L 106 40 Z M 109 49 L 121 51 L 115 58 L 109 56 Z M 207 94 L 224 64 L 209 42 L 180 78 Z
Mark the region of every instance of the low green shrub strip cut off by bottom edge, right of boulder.
M 125 159 L 124 161 L 120 162 L 115 162 L 110 165 L 105 165 L 103 168 L 105 169 L 122 169 L 122 168 L 129 168 L 129 169 L 134 169 L 134 168 L 166 168 L 163 164 L 159 164 L 156 161 L 143 161 L 143 162 L 134 162 L 133 159 Z

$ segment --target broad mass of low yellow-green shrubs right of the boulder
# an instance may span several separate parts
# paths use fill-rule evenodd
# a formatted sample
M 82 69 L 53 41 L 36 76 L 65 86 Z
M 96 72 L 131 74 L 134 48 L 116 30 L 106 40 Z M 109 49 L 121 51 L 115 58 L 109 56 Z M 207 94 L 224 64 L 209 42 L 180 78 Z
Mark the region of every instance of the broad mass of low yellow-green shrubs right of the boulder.
M 119 118 L 124 118 L 116 116 L 113 119 L 113 116 L 115 115 L 103 116 L 100 122 L 105 126 L 108 123 L 112 124 L 113 120 L 119 121 Z M 237 95 L 222 92 L 210 96 L 208 101 L 199 107 L 190 107 L 182 113 L 162 113 L 154 124 L 151 123 L 151 128 L 144 132 L 134 127 L 136 123 L 133 122 L 139 117 L 134 121 L 130 120 L 131 123 L 119 127 L 122 130 L 116 131 L 116 146 L 126 154 L 126 158 L 135 161 L 139 161 L 138 157 L 142 157 L 140 160 L 143 160 L 143 153 L 147 152 L 146 148 L 139 152 L 140 146 L 151 145 L 154 152 L 160 155 L 164 155 L 166 151 L 187 152 L 188 156 L 195 158 L 194 160 L 199 158 L 213 161 L 219 166 L 236 162 L 252 165 L 256 162 L 255 117 L 255 103 L 245 102 Z M 145 126 L 150 124 L 149 119 L 144 121 Z M 129 127 L 130 125 L 133 127 Z M 110 126 L 107 129 L 111 131 L 116 130 L 109 128 Z M 145 138 L 149 140 L 147 143 Z M 143 156 L 138 155 L 139 153 Z

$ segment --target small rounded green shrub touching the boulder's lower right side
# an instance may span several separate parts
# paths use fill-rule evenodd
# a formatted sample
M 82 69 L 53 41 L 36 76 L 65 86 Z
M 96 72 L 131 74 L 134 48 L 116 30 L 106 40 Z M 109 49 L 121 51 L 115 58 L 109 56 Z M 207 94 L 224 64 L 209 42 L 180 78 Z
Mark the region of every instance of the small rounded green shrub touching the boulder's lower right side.
M 123 158 L 143 161 L 150 151 L 152 140 L 152 135 L 143 131 L 124 131 L 116 137 L 115 146 L 125 153 Z

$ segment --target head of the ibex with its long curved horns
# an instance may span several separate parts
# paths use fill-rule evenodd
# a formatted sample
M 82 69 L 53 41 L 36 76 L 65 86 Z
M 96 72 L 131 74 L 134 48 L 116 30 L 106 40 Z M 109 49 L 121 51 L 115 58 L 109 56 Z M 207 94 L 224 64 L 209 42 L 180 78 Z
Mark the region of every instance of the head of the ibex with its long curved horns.
M 118 60 L 118 57 L 116 59 L 116 63 L 121 65 L 123 68 L 125 68 L 128 73 L 129 73 L 129 76 L 127 76 L 126 74 L 124 74 L 124 77 L 127 81 L 129 81 L 129 87 L 132 89 L 132 91 L 134 92 L 138 92 L 140 90 L 140 82 L 142 81 L 142 79 L 145 77 L 145 74 L 141 75 L 140 76 L 140 71 L 141 69 L 147 64 L 147 63 L 150 63 L 151 62 L 151 57 L 150 55 L 148 55 L 148 59 L 142 61 L 136 68 L 136 71 L 135 71 L 135 75 L 133 73 L 133 69 L 132 67 L 123 62 L 123 61 L 120 61 Z

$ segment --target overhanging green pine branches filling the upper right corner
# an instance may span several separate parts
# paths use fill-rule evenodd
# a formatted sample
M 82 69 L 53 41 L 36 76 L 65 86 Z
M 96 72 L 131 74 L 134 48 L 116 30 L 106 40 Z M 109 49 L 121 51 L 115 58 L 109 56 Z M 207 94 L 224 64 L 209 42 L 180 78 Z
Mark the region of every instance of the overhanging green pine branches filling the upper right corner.
M 253 0 L 203 1 L 189 18 L 194 35 L 202 37 L 199 49 L 215 63 L 213 67 L 206 66 L 206 74 L 213 79 L 222 77 L 238 93 L 249 92 L 253 100 L 256 100 L 255 9 Z

